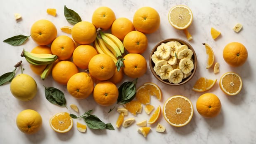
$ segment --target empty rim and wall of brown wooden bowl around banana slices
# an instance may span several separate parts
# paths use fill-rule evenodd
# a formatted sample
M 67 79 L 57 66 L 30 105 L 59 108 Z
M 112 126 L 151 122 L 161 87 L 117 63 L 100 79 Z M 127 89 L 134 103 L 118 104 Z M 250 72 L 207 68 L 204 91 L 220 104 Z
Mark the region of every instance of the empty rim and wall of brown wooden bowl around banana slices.
M 182 79 L 182 81 L 179 83 L 179 84 L 173 84 L 173 83 L 170 83 L 167 80 L 163 80 L 161 79 L 157 74 L 156 72 L 153 70 L 153 67 L 155 66 L 155 63 L 153 62 L 153 60 L 151 59 L 151 56 L 154 54 L 154 52 L 156 51 L 157 47 L 162 44 L 162 43 L 167 43 L 167 42 L 170 42 L 170 41 L 177 41 L 179 43 L 181 43 L 182 45 L 187 45 L 189 47 L 189 49 L 191 49 L 193 51 L 193 56 L 192 56 L 192 59 L 194 60 L 194 69 L 191 71 L 191 75 L 185 79 Z M 196 57 L 196 52 L 194 51 L 193 47 L 186 41 L 182 40 L 182 39 L 178 39 L 178 38 L 170 38 L 170 39 L 165 39 L 161 42 L 158 42 L 158 44 L 156 44 L 156 46 L 152 49 L 151 53 L 150 53 L 150 56 L 149 56 L 149 67 L 150 67 L 150 70 L 152 72 L 152 74 L 156 77 L 156 79 L 158 79 L 158 81 L 161 81 L 162 83 L 164 84 L 167 84 L 167 85 L 170 85 L 170 86 L 180 86 L 182 84 L 185 84 L 187 83 L 190 79 L 192 79 L 192 77 L 194 76 L 194 74 L 196 73 L 196 69 L 197 69 L 197 57 Z

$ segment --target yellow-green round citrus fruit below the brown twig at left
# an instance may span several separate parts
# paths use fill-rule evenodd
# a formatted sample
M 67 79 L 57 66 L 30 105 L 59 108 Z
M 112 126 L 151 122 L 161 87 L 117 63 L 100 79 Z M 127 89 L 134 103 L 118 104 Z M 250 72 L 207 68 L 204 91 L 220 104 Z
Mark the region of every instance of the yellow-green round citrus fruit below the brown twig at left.
M 10 89 L 15 98 L 29 101 L 36 96 L 37 84 L 28 74 L 18 74 L 12 79 Z

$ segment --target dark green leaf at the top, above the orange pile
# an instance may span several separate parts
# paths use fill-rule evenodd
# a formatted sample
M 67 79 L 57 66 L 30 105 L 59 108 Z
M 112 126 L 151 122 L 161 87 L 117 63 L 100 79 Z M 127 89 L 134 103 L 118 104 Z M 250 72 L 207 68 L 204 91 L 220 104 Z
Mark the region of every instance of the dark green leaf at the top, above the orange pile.
M 64 15 L 67 21 L 72 25 L 82 21 L 79 14 L 77 14 L 77 12 L 73 11 L 72 9 L 68 9 L 66 5 L 64 6 Z

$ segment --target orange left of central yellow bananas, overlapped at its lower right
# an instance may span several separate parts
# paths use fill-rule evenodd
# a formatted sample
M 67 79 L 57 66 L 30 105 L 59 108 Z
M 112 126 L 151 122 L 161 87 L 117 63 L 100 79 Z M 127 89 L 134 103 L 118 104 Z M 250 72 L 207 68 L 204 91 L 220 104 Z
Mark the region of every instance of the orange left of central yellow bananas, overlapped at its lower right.
M 81 69 L 88 69 L 89 61 L 97 54 L 93 46 L 88 44 L 79 45 L 73 52 L 73 63 Z

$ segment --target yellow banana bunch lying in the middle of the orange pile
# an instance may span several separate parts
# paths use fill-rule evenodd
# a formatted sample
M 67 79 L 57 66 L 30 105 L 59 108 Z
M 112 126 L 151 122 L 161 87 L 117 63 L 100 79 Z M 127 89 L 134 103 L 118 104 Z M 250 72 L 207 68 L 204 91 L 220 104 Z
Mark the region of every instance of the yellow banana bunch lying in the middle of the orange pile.
M 117 71 L 123 66 L 124 45 L 120 39 L 111 33 L 103 33 L 98 30 L 100 37 L 97 35 L 93 46 L 100 54 L 106 54 L 116 63 Z

